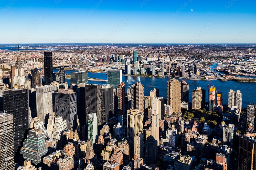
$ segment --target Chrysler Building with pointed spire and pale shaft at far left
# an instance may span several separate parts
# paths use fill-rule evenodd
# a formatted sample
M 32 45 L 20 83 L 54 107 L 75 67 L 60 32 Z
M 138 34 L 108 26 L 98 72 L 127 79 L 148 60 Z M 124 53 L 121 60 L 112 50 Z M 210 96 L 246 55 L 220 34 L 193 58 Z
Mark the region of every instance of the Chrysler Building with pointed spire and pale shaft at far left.
M 22 85 L 24 87 L 27 87 L 26 77 L 24 75 L 24 64 L 22 59 L 19 56 L 19 50 L 18 50 L 18 57 L 15 63 L 15 69 L 14 69 L 14 78 L 13 78 L 13 87 L 15 83 L 19 83 L 19 85 Z M 2 76 L 2 75 L 1 75 Z

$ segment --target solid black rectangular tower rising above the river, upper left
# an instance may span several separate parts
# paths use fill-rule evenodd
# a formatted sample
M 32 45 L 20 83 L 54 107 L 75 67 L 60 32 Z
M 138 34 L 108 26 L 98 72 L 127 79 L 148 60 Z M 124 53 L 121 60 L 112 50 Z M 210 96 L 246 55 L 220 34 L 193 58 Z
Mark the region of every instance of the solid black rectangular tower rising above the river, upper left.
M 45 66 L 45 85 L 53 82 L 52 77 L 52 52 L 44 52 L 44 66 Z

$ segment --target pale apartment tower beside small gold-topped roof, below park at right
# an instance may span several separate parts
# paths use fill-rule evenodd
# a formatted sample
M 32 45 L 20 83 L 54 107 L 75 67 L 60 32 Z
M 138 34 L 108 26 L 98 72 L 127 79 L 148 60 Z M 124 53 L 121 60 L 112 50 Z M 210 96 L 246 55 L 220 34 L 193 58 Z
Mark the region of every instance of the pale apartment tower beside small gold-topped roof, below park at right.
M 223 141 L 223 145 L 229 145 L 231 147 L 233 146 L 233 142 L 234 142 L 234 125 L 233 124 L 229 124 L 229 125 L 224 124 L 222 141 Z

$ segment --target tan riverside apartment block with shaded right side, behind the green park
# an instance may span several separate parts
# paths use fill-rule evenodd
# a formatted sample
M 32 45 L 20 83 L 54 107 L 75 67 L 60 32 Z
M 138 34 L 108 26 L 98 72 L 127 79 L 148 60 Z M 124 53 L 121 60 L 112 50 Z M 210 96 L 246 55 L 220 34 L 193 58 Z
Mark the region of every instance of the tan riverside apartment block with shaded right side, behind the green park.
M 192 109 L 202 109 L 205 107 L 205 89 L 197 87 L 192 91 Z

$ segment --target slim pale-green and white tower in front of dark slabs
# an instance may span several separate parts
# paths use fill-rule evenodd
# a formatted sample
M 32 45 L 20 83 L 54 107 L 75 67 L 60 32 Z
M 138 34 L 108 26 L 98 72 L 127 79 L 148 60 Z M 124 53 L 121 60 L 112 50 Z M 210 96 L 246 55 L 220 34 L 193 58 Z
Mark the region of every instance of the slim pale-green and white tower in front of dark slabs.
M 92 144 L 94 145 L 96 141 L 98 140 L 98 117 L 96 113 L 89 114 L 88 119 L 88 139 L 92 141 Z

